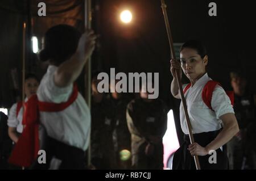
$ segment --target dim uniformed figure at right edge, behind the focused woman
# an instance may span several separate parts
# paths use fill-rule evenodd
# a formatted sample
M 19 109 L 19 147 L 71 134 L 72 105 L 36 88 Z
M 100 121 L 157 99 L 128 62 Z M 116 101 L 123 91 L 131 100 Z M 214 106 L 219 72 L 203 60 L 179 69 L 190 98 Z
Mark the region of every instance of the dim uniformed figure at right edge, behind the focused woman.
M 240 127 L 227 144 L 230 169 L 256 169 L 255 140 L 256 120 L 253 95 L 247 89 L 245 75 L 240 72 L 230 73 L 230 83 L 234 90 L 234 112 Z

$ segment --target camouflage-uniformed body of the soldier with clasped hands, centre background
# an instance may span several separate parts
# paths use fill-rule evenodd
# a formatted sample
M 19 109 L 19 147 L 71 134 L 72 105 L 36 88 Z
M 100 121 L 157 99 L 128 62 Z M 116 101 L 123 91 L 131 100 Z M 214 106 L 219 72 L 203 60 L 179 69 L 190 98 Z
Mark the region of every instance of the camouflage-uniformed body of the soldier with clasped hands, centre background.
M 126 111 L 131 133 L 133 169 L 163 169 L 162 138 L 167 129 L 167 108 L 160 99 L 148 99 L 148 92 L 132 100 Z

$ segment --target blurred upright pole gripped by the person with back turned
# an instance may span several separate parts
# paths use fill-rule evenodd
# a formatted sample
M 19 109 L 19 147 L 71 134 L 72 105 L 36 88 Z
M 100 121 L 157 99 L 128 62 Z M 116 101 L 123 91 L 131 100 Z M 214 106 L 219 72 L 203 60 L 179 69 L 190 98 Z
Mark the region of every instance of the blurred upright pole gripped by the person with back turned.
M 92 28 L 91 21 L 92 21 L 92 10 L 91 10 L 91 0 L 85 0 L 84 2 L 84 20 L 85 20 L 85 30 Z M 90 90 L 91 90 L 91 58 L 88 58 L 88 61 L 85 65 L 85 100 L 88 104 L 90 110 Z M 87 164 L 90 166 L 90 128 L 89 128 L 89 146 L 87 151 Z

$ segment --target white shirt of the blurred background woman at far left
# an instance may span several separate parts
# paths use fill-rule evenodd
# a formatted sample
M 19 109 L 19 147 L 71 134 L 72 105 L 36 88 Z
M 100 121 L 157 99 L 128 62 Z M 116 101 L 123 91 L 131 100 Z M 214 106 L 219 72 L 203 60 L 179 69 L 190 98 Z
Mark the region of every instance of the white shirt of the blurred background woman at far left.
M 27 98 L 25 99 L 25 102 L 27 102 Z M 20 107 L 18 116 L 16 116 L 17 106 L 18 106 L 18 103 L 15 103 L 15 104 L 13 104 L 13 106 L 11 106 L 9 115 L 8 115 L 7 125 L 9 127 L 16 128 L 16 131 L 18 133 L 22 133 L 22 131 L 23 131 L 23 124 L 22 124 L 23 107 Z

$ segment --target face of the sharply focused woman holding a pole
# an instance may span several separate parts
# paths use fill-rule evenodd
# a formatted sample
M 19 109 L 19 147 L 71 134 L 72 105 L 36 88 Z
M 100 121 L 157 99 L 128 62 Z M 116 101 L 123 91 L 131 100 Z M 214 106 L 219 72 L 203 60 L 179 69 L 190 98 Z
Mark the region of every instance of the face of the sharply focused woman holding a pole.
M 184 74 L 190 79 L 198 79 L 205 73 L 205 66 L 208 63 L 208 57 L 203 59 L 195 49 L 184 48 L 180 52 L 181 68 Z

